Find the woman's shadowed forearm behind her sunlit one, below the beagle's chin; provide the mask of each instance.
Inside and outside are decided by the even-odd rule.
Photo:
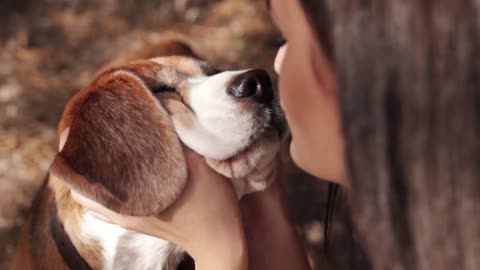
[[[291,220],[283,183],[278,180],[241,202],[249,269],[308,270],[306,252]]]

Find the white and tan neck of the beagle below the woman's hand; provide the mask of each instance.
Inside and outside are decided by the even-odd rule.
[[[160,270],[177,265],[182,259],[182,249],[168,241],[95,218],[71,198],[69,189],[55,177],[50,177],[49,185],[55,194],[58,222],[74,250],[91,269]],[[58,246],[58,240],[56,242],[60,250],[62,247]],[[75,252],[60,253],[67,264],[68,260],[75,260],[72,258]]]

